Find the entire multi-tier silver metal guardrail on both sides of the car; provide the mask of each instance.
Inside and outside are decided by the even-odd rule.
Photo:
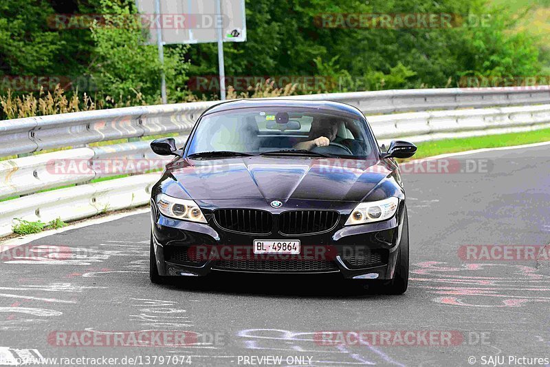
[[[369,116],[369,123],[381,143],[398,137],[419,141],[445,133],[488,134],[503,129],[537,129],[550,124],[550,87],[534,91],[392,90],[283,98],[340,101],[355,105],[367,115],[407,111]],[[0,235],[12,233],[13,218],[43,222],[57,217],[76,220],[102,211],[145,205],[151,185],[159,176],[158,173],[141,174],[150,168],[148,166],[136,167],[132,173],[139,174],[137,176],[89,181],[119,173],[94,168],[102,160],[162,160],[150,151],[148,141],[102,147],[86,145],[174,132],[182,135],[177,137],[181,145],[199,114],[217,103],[126,107],[0,121],[0,156],[73,147],[0,161],[0,199],[27,195],[0,202]],[[522,106],[504,107],[510,105]],[[493,108],[476,108],[487,106]],[[428,111],[430,109],[443,110]],[[64,162],[78,162],[81,166],[75,171],[56,171]],[[82,165],[89,169],[82,169]],[[73,184],[78,186],[37,193]]]

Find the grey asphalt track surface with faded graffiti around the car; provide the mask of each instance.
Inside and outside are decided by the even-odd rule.
[[[550,357],[549,260],[460,254],[465,245],[549,244],[549,146],[452,160],[459,171],[403,174],[411,253],[404,295],[369,294],[338,276],[224,273],[156,286],[148,279],[150,219],[139,214],[34,240],[26,245],[32,255],[2,253],[0,365],[43,356],[118,357],[114,365],[127,366],[124,356],[141,356],[136,365],[483,366],[498,355],[503,366],[543,366],[544,360],[509,363],[509,357]],[[466,165],[485,168],[460,173]],[[75,339],[64,346],[56,339],[85,331],[198,334],[181,346],[155,347],[84,346]],[[358,343],[351,333],[331,333],[347,339],[327,343],[319,339],[323,331],[391,338]],[[421,336],[399,343],[399,336],[417,331],[435,337],[429,345]],[[437,345],[444,333],[452,342]],[[163,363],[158,357],[153,364],[154,356],[165,356]],[[245,358],[252,356],[268,359]],[[282,357],[280,364],[272,357]],[[44,365],[93,365],[79,362]]]

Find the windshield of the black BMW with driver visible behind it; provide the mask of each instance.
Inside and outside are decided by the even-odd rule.
[[[246,108],[203,116],[187,155],[311,152],[311,156],[373,158],[373,141],[366,122],[353,115],[321,109]]]

